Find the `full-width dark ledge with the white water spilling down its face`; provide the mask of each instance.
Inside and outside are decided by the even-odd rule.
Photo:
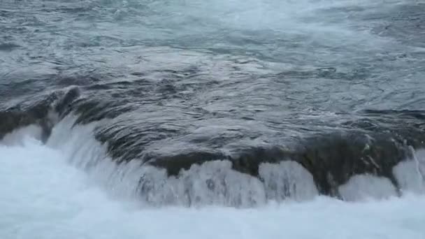
[[[425,115],[418,111],[366,113],[386,114],[387,122],[394,122],[387,129],[379,122],[366,127],[347,122],[345,131],[312,133],[290,145],[208,148],[217,136],[199,138],[195,131],[173,142],[158,136],[167,132],[161,124],[159,131],[130,130],[116,118],[131,109],[121,110],[80,98],[78,87],[55,92],[35,105],[5,110],[3,143],[13,145],[30,133],[64,148],[76,166],[101,173],[106,186],[125,184],[121,194],[154,205],[252,206],[318,194],[352,201],[425,190],[425,152],[420,150]],[[86,159],[75,162],[76,154]]]

